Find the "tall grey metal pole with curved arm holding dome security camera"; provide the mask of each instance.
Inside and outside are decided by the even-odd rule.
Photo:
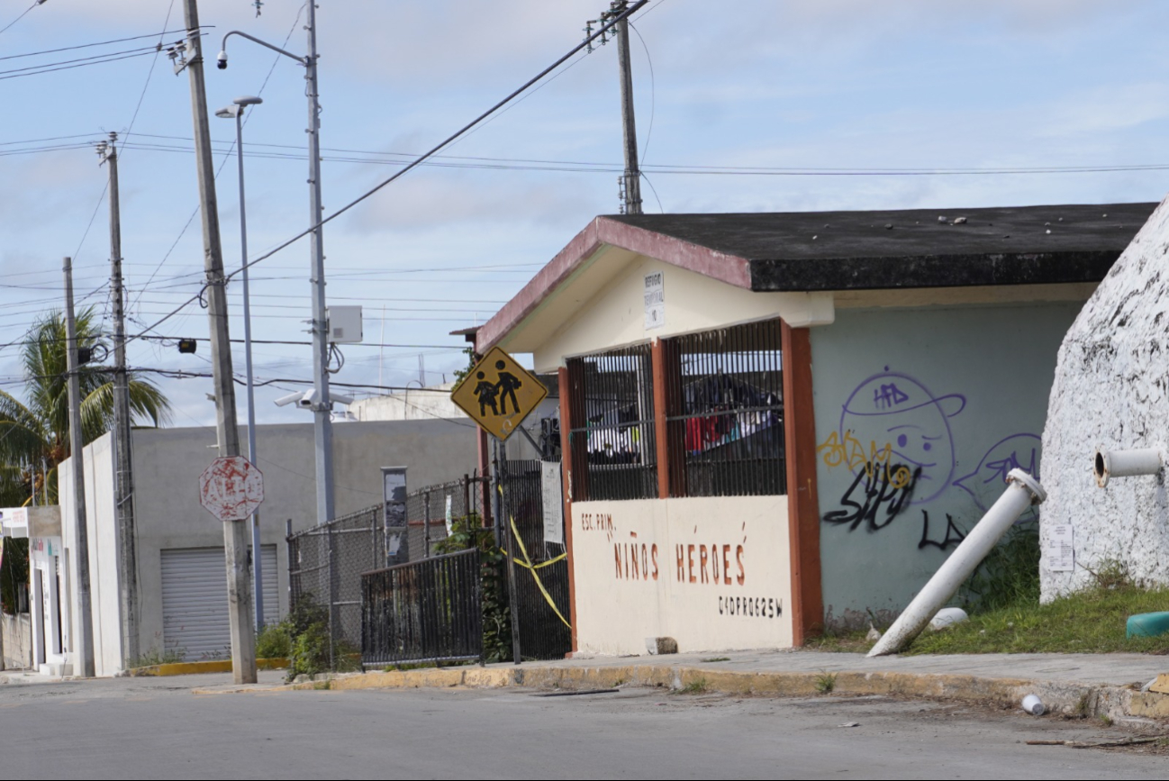
[[[325,309],[325,244],[320,226],[325,212],[320,205],[320,104],[317,87],[317,6],[307,4],[309,54],[300,57],[291,51],[261,41],[254,35],[231,30],[223,36],[222,50],[216,57],[220,70],[227,68],[227,40],[233,35],[245,37],[253,43],[267,47],[297,61],[305,69],[309,97],[309,224],[316,226],[310,236],[312,257],[312,381],[311,408],[317,450],[317,523],[333,519],[333,424],[332,396],[328,390],[328,312]],[[302,405],[303,406],[303,405]]]

